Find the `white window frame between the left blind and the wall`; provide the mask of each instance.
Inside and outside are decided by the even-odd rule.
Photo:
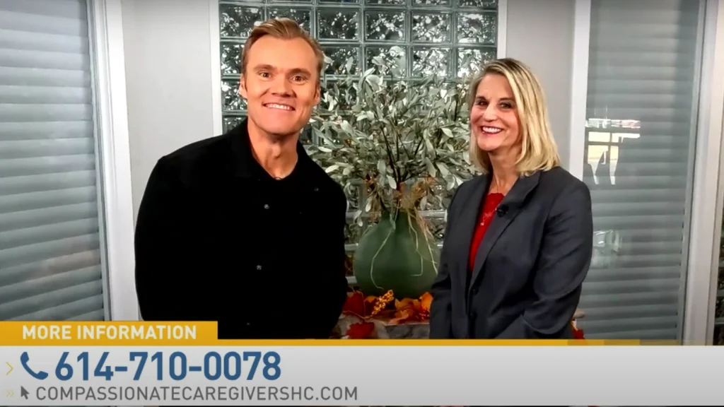
[[[106,315],[112,321],[138,321],[122,0],[88,1],[93,1],[88,20],[95,54]]]

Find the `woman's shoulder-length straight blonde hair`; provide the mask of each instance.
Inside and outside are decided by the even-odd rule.
[[[539,170],[547,171],[560,166],[555,139],[550,130],[545,96],[538,77],[520,61],[512,58],[495,59],[485,64],[481,72],[473,78],[468,93],[468,106],[471,110],[478,85],[485,75],[502,75],[513,90],[521,132],[521,155],[515,161],[518,172],[528,176]],[[484,174],[491,172],[489,156],[478,147],[472,128],[470,137],[471,161]]]

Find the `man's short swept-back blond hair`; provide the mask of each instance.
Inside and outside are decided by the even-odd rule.
[[[241,54],[242,75],[246,73],[246,65],[249,62],[249,51],[251,50],[251,46],[253,46],[259,38],[266,35],[282,40],[301,38],[308,43],[314,51],[314,56],[316,56],[317,74],[319,74],[317,76],[317,80],[319,81],[319,77],[321,77],[321,70],[324,68],[324,52],[321,50],[319,43],[312,38],[309,33],[301,28],[296,21],[286,17],[266,20],[251,30],[251,34],[249,34],[249,38],[246,39],[246,42],[244,43],[244,50]]]

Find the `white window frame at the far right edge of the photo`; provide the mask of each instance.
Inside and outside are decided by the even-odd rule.
[[[689,274],[684,312],[685,343],[712,345],[722,227],[720,161],[724,125],[724,0],[708,0],[699,96]]]

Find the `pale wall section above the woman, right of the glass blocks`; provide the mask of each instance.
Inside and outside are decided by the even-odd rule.
[[[505,56],[528,64],[546,94],[550,122],[568,168],[575,0],[508,0]]]

